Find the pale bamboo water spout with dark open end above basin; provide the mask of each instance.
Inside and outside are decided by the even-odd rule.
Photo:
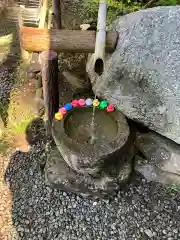
[[[99,0],[97,33],[94,53],[94,71],[98,75],[102,75],[105,67],[106,14],[106,0]]]

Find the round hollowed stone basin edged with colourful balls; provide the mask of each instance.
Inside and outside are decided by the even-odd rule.
[[[129,137],[126,118],[119,111],[95,111],[95,141],[90,143],[92,108],[73,108],[61,121],[54,120],[53,137],[66,163],[75,171],[94,175],[102,164],[120,157]]]

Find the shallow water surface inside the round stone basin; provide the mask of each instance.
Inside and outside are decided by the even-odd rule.
[[[117,123],[105,110],[96,109],[94,134],[92,133],[92,108],[76,108],[65,119],[66,134],[80,143],[103,144],[112,141],[117,134]],[[93,137],[93,141],[92,141]],[[95,140],[95,141],[94,141]]]

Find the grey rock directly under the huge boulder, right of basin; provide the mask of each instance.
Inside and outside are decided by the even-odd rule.
[[[180,175],[180,145],[152,132],[140,135],[136,146],[149,164]]]

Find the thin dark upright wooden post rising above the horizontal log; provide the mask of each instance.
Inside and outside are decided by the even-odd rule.
[[[61,29],[61,0],[53,0],[53,28]]]

